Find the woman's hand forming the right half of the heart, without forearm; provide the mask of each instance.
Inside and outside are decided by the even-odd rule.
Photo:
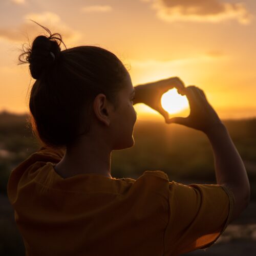
[[[200,88],[189,86],[180,90],[179,93],[186,95],[190,106],[190,114],[188,117],[171,118],[167,120],[167,123],[183,124],[205,134],[212,128],[222,125],[218,114],[208,103],[204,92]]]

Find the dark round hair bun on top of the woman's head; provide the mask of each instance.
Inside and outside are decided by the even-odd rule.
[[[32,44],[29,56],[30,73],[34,79],[38,79],[45,73],[60,55],[60,47],[56,40],[44,35],[37,36]]]

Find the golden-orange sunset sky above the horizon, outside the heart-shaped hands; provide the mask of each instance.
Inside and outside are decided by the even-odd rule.
[[[256,116],[255,0],[1,0],[0,111],[28,111],[33,79],[17,66],[24,42],[59,32],[68,48],[115,53],[133,85],[179,76],[202,88],[221,118]],[[144,104],[138,118],[162,118]]]

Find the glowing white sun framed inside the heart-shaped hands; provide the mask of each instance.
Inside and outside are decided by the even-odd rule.
[[[169,114],[176,114],[189,108],[187,97],[178,94],[177,89],[164,93],[161,98],[161,104]]]

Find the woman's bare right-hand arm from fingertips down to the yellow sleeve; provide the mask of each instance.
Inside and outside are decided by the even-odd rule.
[[[208,137],[215,156],[217,183],[228,187],[234,195],[231,220],[236,219],[250,200],[250,184],[244,163],[234,146],[225,125],[208,103],[204,92],[190,86],[183,90],[189,101],[188,117],[175,117],[169,123],[179,123],[202,131]]]

